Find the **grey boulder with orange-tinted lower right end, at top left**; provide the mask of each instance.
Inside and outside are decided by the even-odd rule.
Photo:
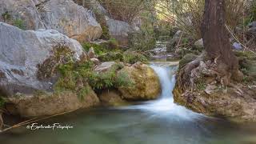
[[[72,0],[50,0],[43,2],[38,10],[46,29],[58,30],[79,42],[100,38],[102,28],[94,13]]]

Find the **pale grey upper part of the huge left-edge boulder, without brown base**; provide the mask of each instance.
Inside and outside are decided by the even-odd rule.
[[[55,62],[49,58],[54,58],[62,47],[70,51],[75,60],[83,54],[82,46],[77,41],[56,30],[25,31],[0,22],[0,31],[0,91],[6,95],[51,90],[54,81],[50,75],[44,73],[41,75],[44,80],[38,80],[41,70],[51,73],[61,60],[57,58]],[[46,64],[49,66],[46,67]]]

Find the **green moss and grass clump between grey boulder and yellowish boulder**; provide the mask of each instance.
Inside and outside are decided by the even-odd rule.
[[[63,90],[71,90],[79,99],[90,93],[90,87],[94,90],[117,88],[118,86],[130,86],[131,81],[127,74],[118,73],[122,65],[117,64],[104,73],[96,73],[93,70],[93,62],[69,62],[58,67],[61,78],[58,79],[54,90],[58,93]]]

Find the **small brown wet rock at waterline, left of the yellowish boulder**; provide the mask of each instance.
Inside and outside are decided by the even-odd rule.
[[[118,90],[104,90],[102,94],[99,94],[99,99],[104,106],[124,106],[127,104]]]

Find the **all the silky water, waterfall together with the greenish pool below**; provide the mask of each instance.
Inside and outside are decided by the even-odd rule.
[[[26,130],[0,134],[0,144],[254,144],[256,124],[234,124],[194,113],[174,103],[172,90],[177,67],[155,66],[162,94],[158,100],[132,106],[79,110],[50,118],[70,130]]]

